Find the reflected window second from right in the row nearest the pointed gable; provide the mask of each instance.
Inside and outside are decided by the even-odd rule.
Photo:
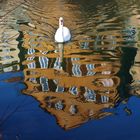
[[[96,101],[96,94],[94,92],[94,90],[90,90],[88,88],[85,87],[85,94],[84,97],[87,101]]]

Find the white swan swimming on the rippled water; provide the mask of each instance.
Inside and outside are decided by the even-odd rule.
[[[58,43],[64,43],[71,39],[70,30],[63,26],[64,20],[62,17],[59,18],[59,28],[55,33],[55,41]]]

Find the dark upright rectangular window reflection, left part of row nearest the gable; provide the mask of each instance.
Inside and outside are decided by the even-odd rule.
[[[42,91],[49,91],[48,79],[45,77],[40,77],[40,84],[42,86]]]

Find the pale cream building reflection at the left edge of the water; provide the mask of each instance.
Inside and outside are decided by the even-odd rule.
[[[8,27],[0,27],[0,65],[1,72],[10,72],[19,70],[19,32]]]

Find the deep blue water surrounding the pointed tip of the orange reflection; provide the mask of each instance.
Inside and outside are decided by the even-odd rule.
[[[9,73],[12,75],[12,73]],[[1,74],[6,78],[9,74]],[[14,75],[22,75],[22,72]],[[25,88],[21,82],[1,82],[1,135],[5,140],[138,140],[140,128],[140,101],[131,97],[127,104],[120,104],[112,109],[115,115],[100,120],[91,120],[78,128],[65,131],[60,128],[55,118],[39,108],[38,102],[32,97],[22,95]],[[131,109],[128,115],[124,108]],[[110,110],[109,110],[110,111]],[[63,118],[62,118],[63,119]]]

